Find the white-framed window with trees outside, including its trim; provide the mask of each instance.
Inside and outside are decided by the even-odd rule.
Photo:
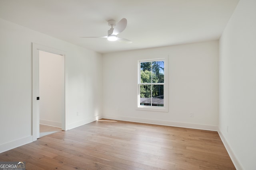
[[[153,59],[138,62],[138,109],[168,111],[166,61]]]

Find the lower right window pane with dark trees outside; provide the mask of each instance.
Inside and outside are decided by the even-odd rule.
[[[152,85],[152,106],[164,106],[164,85]]]

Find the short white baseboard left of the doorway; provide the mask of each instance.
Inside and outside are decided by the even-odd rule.
[[[32,136],[24,137],[22,139],[18,139],[12,142],[4,143],[0,145],[0,153],[5,152],[10,149],[14,149],[16,147],[20,147],[22,145],[31,143],[33,141]]]

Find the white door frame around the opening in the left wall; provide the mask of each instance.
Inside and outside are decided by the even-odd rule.
[[[40,97],[39,94],[39,50],[46,51],[49,53],[54,53],[58,55],[64,56],[64,64],[66,54],[64,51],[60,51],[58,49],[53,49],[51,47],[46,47],[44,45],[39,45],[36,43],[32,43],[32,136],[33,141],[36,141],[39,138],[39,101],[37,97]],[[65,71],[66,72],[66,66]],[[66,75],[66,74],[65,74]],[[66,81],[65,81],[66,84]],[[64,86],[65,86],[64,84]],[[66,88],[65,88],[66,94]],[[65,98],[66,95],[64,94]],[[65,99],[64,99],[65,100]],[[62,130],[66,130],[66,100],[65,100],[65,112],[62,114]]]

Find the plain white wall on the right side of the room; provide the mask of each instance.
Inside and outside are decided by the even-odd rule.
[[[240,0],[220,38],[219,117],[236,168],[256,169],[255,0]]]

